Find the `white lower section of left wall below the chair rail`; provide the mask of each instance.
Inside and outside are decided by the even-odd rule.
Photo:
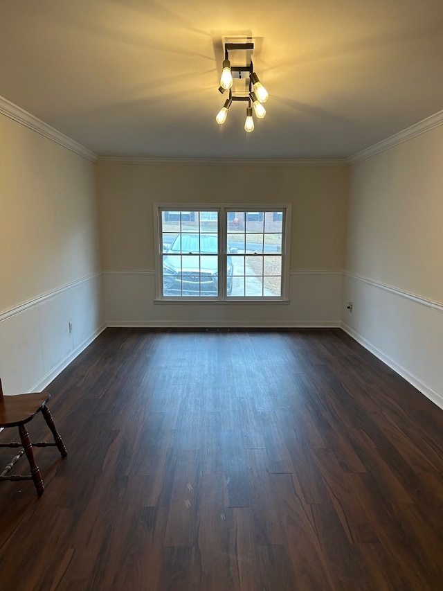
[[[102,310],[102,274],[97,273],[1,313],[5,394],[46,387],[105,328]]]

